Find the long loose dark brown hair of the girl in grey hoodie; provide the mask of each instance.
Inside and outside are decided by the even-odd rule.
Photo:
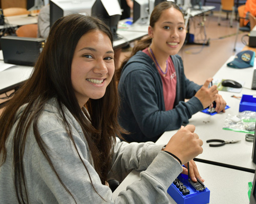
[[[58,176],[48,154],[47,146],[42,141],[37,128],[38,118],[44,105],[53,97],[57,100],[66,131],[76,148],[77,155],[84,168],[88,172],[75,145],[63,106],[67,107],[80,124],[89,144],[94,168],[99,174],[101,183],[105,184],[111,165],[112,145],[116,141],[115,136],[121,137],[120,132],[122,132],[117,121],[119,98],[115,74],[113,80],[106,88],[104,96],[100,99],[89,99],[85,107],[82,108],[83,112],[79,107],[71,84],[71,63],[74,50],[81,36],[92,30],[99,30],[105,33],[113,43],[111,31],[107,25],[97,18],[72,14],[58,19],[50,30],[45,47],[42,49],[30,79],[8,102],[0,117],[0,165],[3,165],[7,157],[5,143],[15,122],[15,114],[21,106],[27,104],[13,135],[14,185],[19,203],[25,203],[25,200],[27,200],[25,196],[28,198],[23,168],[23,155],[27,133],[31,125],[33,126],[34,137],[42,154],[48,160],[62,186],[73,197]],[[91,136],[87,133],[90,133]]]

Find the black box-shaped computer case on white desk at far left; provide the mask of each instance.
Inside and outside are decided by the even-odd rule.
[[[5,36],[0,40],[5,63],[27,66],[34,66],[45,44],[43,38]]]

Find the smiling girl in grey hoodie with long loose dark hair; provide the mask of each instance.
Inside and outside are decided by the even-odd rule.
[[[53,24],[30,79],[0,116],[0,203],[169,202],[167,188],[203,142],[194,125],[164,150],[120,142],[112,43],[94,17],[72,14]],[[122,181],[132,169],[143,170],[140,181],[114,198],[106,181]]]

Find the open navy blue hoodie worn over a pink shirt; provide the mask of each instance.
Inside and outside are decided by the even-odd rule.
[[[139,51],[123,67],[118,84],[119,122],[131,133],[123,135],[129,142],[156,142],[165,131],[179,129],[193,114],[203,110],[200,100],[194,96],[201,86],[185,77],[180,56],[170,57],[177,85],[174,108],[168,111],[164,106],[162,80],[150,56]],[[189,99],[186,103],[185,98]]]

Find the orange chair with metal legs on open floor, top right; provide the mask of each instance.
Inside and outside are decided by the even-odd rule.
[[[221,25],[221,12],[227,13],[227,19],[228,19],[228,13],[231,13],[230,16],[230,27],[233,27],[233,17],[234,17],[234,0],[221,0],[221,6],[219,11],[219,17],[218,17],[218,25]]]

